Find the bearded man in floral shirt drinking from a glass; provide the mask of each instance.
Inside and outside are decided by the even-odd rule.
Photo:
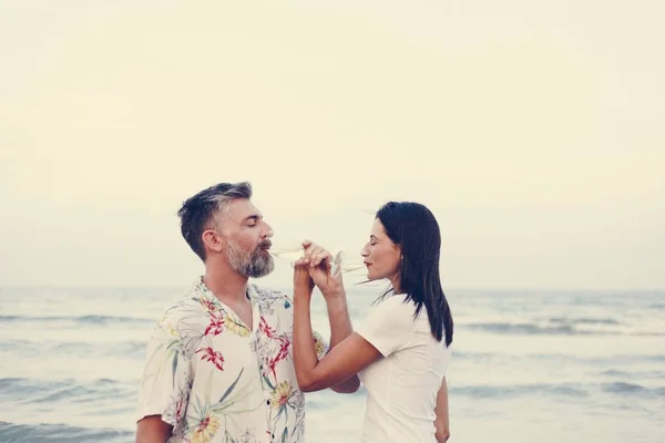
[[[293,302],[248,284],[274,268],[273,230],[250,197],[249,183],[221,183],[178,210],[182,235],[205,275],[153,330],[139,392],[137,443],[305,441]],[[304,253],[329,259],[314,244],[304,243]],[[352,331],[345,300],[327,303],[335,347]],[[316,333],[315,340],[320,359],[326,344]],[[358,387],[352,378],[332,389]]]

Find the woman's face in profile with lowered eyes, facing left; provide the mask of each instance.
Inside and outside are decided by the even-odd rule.
[[[367,266],[368,280],[387,278],[392,282],[392,287],[397,288],[401,249],[388,237],[378,218],[371,227],[369,241],[362,247],[360,255]]]

